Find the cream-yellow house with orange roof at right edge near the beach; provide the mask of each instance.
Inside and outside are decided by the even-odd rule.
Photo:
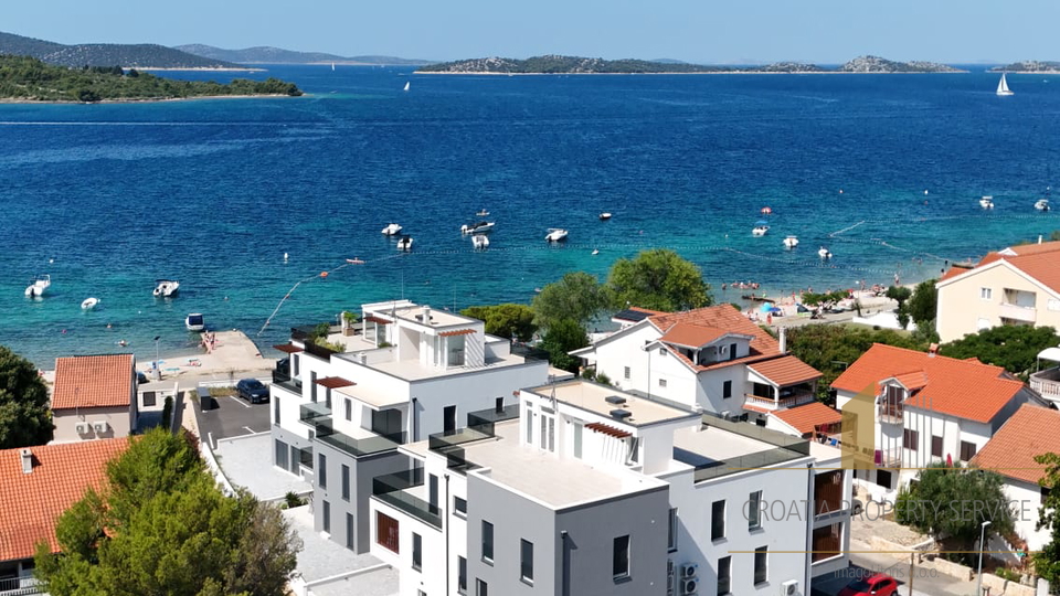
[[[935,287],[943,342],[1003,324],[1060,329],[1060,242],[1010,246],[973,267],[952,267]]]

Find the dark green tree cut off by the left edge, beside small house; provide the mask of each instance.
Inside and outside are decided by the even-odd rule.
[[[0,449],[52,440],[47,387],[29,360],[0,345]]]

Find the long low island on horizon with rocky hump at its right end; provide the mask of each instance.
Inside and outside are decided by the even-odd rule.
[[[700,74],[700,73],[963,73],[933,62],[894,62],[860,56],[838,68],[816,64],[777,62],[764,66],[717,66],[677,61],[603,60],[545,55],[527,60],[486,57],[442,62],[420,67],[417,73],[438,74]]]

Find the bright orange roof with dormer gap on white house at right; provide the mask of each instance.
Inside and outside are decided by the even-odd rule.
[[[932,409],[958,418],[990,422],[1024,389],[1000,366],[976,360],[957,360],[926,352],[876,343],[831,382],[833,389],[860,393],[879,392],[879,383],[902,377],[913,383],[923,375],[926,383],[905,400],[905,405]]]

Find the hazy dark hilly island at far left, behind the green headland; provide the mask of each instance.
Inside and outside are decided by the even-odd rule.
[[[0,32],[0,54],[32,56],[47,64],[124,66],[126,68],[246,70],[231,62],[208,58],[157,44],[82,43],[64,45]]]

